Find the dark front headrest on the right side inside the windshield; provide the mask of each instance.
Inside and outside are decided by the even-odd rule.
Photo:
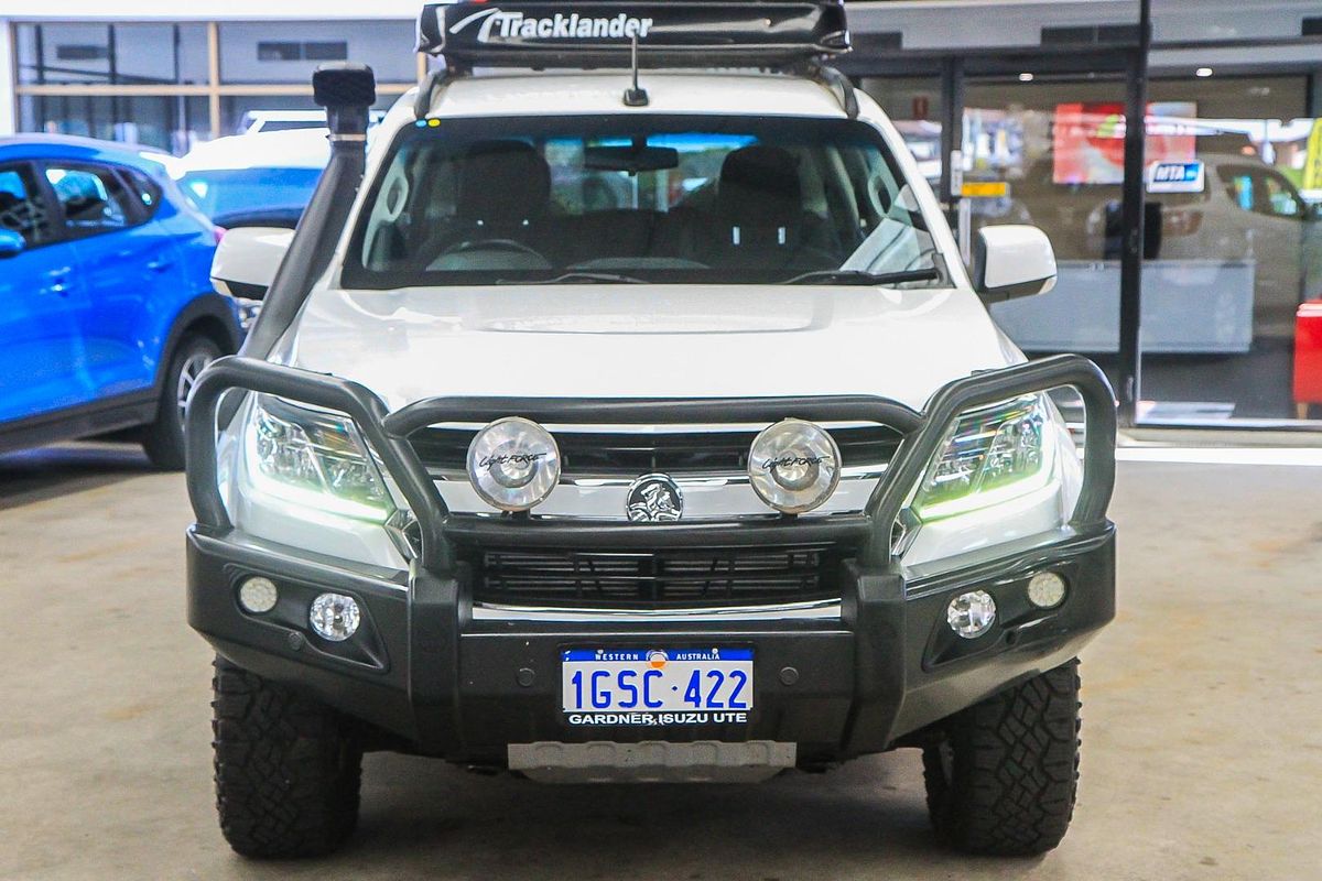
[[[798,160],[780,147],[743,147],[726,156],[718,190],[722,218],[747,226],[791,226],[802,217]]]

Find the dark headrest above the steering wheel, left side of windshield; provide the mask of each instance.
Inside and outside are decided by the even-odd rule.
[[[539,217],[551,198],[551,169],[525,141],[479,141],[459,174],[459,217],[509,226]]]

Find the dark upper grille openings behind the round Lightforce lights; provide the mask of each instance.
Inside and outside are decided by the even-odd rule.
[[[463,473],[473,429],[423,428],[410,436],[431,473]],[[637,477],[664,473],[742,474],[756,431],[724,432],[553,432],[566,474]],[[843,468],[884,466],[902,435],[884,425],[833,428]]]

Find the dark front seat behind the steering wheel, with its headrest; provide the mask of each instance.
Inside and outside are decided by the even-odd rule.
[[[539,251],[550,201],[551,169],[535,147],[517,140],[472,144],[459,166],[455,215],[427,250],[431,268],[547,268],[517,246]]]

